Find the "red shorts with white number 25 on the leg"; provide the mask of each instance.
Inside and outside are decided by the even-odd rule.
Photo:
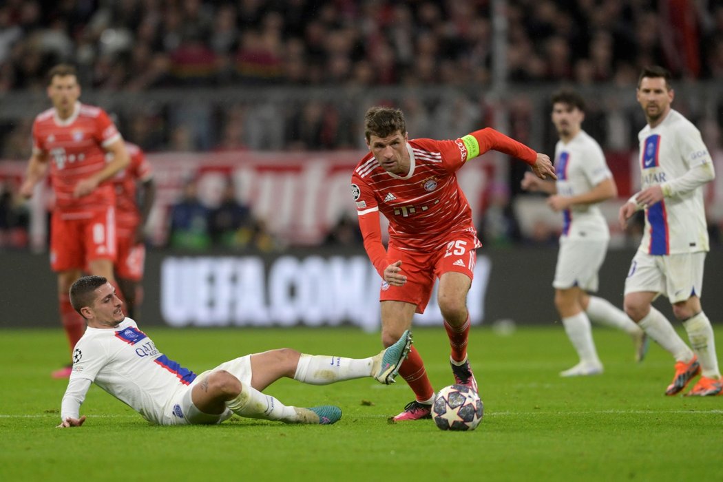
[[[474,279],[476,249],[482,246],[474,232],[451,235],[445,244],[429,253],[402,251],[389,244],[387,259],[390,263],[401,259],[401,272],[407,277],[402,286],[392,286],[382,281],[380,301],[406,301],[416,304],[416,312],[424,313],[435,280],[445,272],[461,272]]]

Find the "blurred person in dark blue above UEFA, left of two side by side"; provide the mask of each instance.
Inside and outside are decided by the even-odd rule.
[[[169,246],[176,249],[206,249],[210,245],[209,210],[197,196],[196,181],[184,185],[183,197],[171,207]]]

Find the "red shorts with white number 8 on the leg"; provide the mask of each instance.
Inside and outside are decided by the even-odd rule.
[[[58,271],[84,270],[96,259],[116,259],[114,207],[92,212],[54,211],[51,218],[50,265]]]

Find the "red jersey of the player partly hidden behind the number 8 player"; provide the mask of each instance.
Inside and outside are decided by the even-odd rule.
[[[134,233],[140,223],[140,210],[136,199],[137,182],[145,182],[153,177],[150,163],[137,145],[126,142],[126,150],[130,157],[127,168],[121,169],[112,178],[116,191],[116,231],[118,236],[129,236]],[[110,160],[111,155],[106,158]]]

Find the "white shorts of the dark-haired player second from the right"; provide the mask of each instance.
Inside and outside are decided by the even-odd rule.
[[[605,260],[607,241],[561,237],[552,286],[558,290],[577,286],[584,291],[597,291],[597,273]]]

